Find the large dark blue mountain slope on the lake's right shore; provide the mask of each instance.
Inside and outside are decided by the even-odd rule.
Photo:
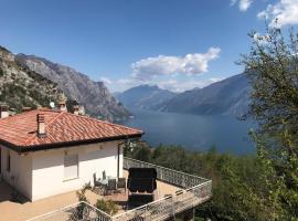
[[[251,90],[245,74],[238,74],[204,88],[194,88],[178,94],[162,103],[159,109],[198,115],[243,116],[248,110]]]

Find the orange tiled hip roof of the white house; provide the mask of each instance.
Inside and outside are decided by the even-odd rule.
[[[45,117],[45,137],[38,136],[38,114]],[[95,118],[51,109],[35,109],[0,119],[0,143],[30,148],[88,140],[138,137],[142,131]]]

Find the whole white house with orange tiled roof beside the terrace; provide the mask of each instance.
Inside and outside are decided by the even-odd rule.
[[[142,135],[67,112],[6,110],[0,108],[0,173],[31,201],[79,189],[94,172],[121,176],[124,141]]]

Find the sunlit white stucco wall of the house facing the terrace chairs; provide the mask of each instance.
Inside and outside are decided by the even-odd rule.
[[[81,189],[86,182],[93,185],[93,173],[117,177],[118,144],[110,141],[77,147],[42,150],[32,154],[32,201]],[[78,178],[64,180],[64,155],[78,155]],[[123,176],[123,148],[119,159]]]

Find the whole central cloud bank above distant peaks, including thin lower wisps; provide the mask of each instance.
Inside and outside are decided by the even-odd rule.
[[[198,80],[198,75],[207,72],[209,62],[219,57],[220,52],[219,48],[210,48],[206,53],[148,57],[132,63],[132,74],[127,78],[111,81],[103,76],[100,81],[113,92],[123,92],[141,84],[158,85],[172,92],[203,87],[220,80]]]

